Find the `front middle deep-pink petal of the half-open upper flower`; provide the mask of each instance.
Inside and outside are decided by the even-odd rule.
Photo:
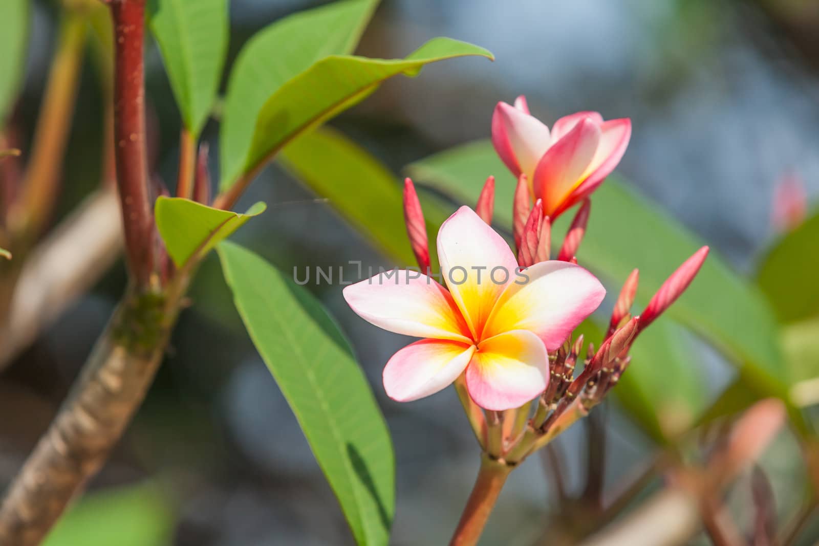
[[[546,151],[533,183],[535,198],[543,200],[544,214],[554,219],[554,211],[582,182],[599,142],[600,126],[584,118]]]

